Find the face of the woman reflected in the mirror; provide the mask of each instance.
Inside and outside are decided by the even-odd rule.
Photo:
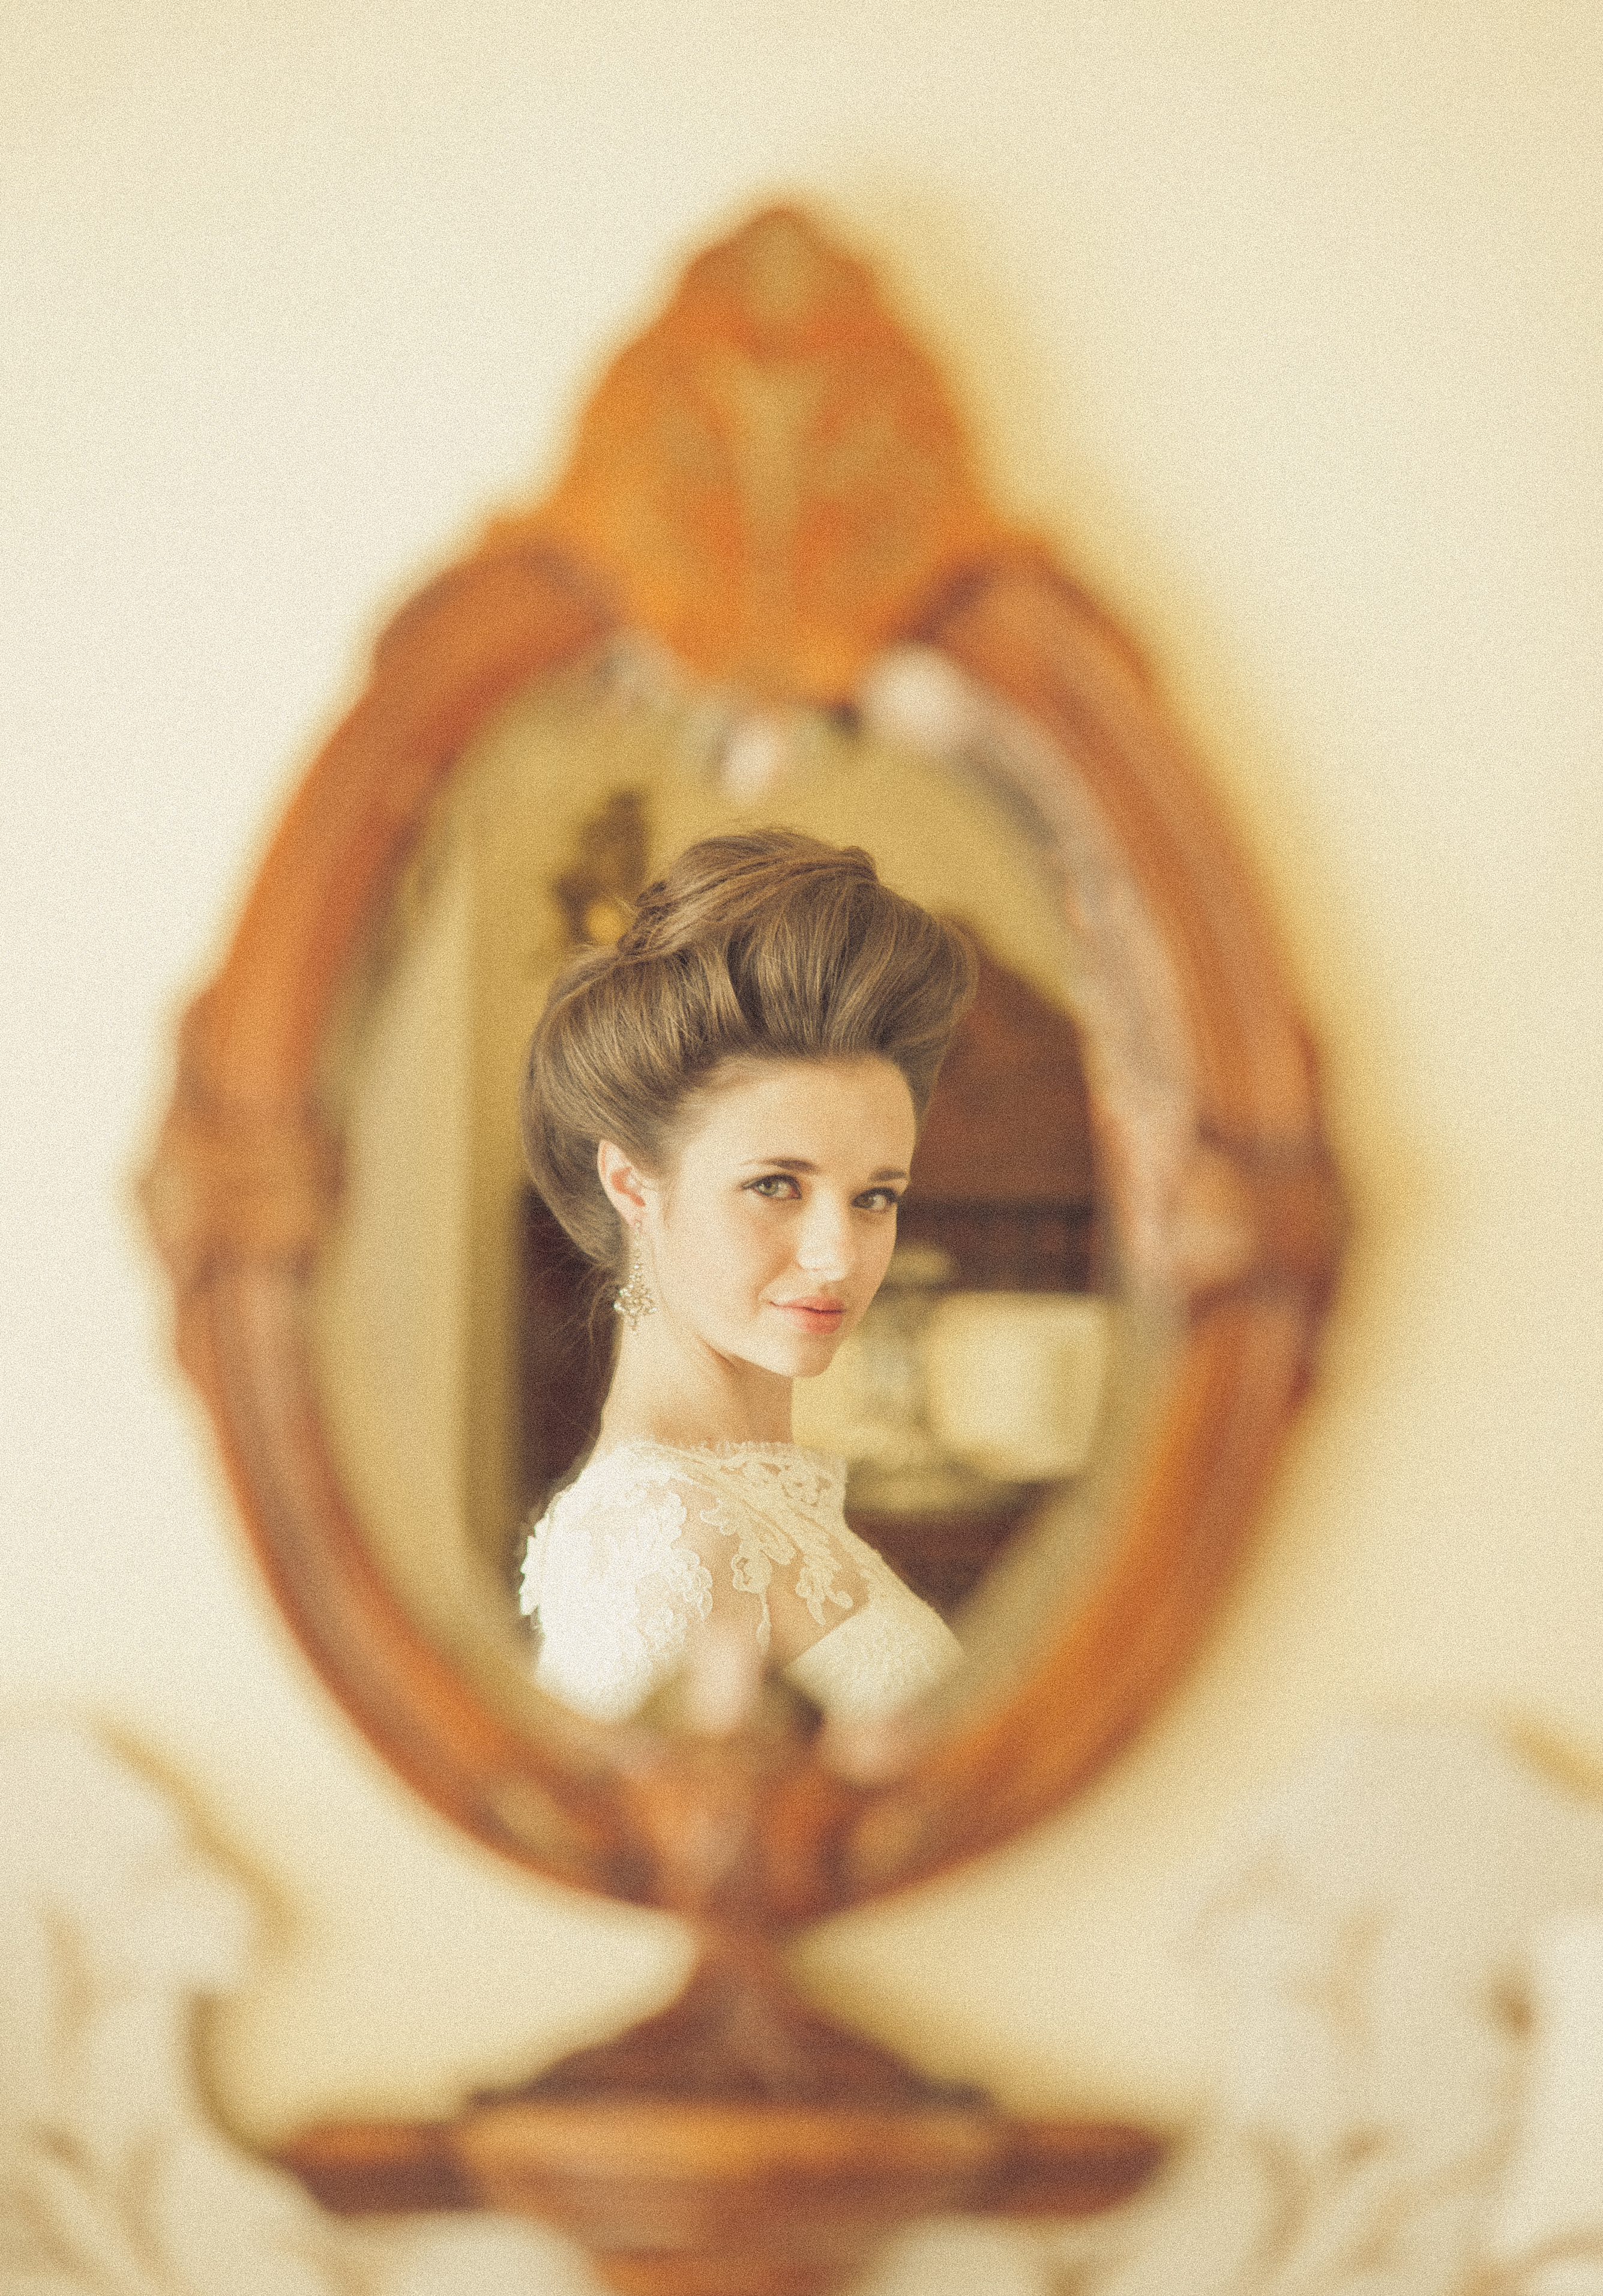
[[[891,1061],[726,1061],[673,1171],[643,1182],[659,1336],[790,1380],[824,1371],[896,1249],[912,1148]]]

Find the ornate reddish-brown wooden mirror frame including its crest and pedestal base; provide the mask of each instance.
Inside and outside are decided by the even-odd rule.
[[[1086,1017],[1125,1288],[1174,1345],[1089,1589],[983,1697],[838,1738],[779,1692],[723,1736],[537,1729],[406,1614],[342,1490],[308,1345],[340,1194],[319,1049],[439,788],[521,689],[618,631],[765,705],[850,709],[886,659],[983,709],[1102,967]],[[1141,1029],[1162,1008],[1171,1042]],[[1075,2209],[1151,2138],[1006,2122],[831,2027],[774,1940],[1006,1839],[1075,1791],[1197,1644],[1309,1375],[1341,1210],[1304,1033],[1229,833],[1109,618],[981,498],[932,363],[861,264],[774,209],[611,365],[556,494],[384,631],[223,971],[145,1182],[273,1591],[390,1763],[478,1839],[700,1924],[682,2000],[450,2128],[294,2149],[335,2204],[524,2206],[620,2289],[827,2289],[898,2218]]]

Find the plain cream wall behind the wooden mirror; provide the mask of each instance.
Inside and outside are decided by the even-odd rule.
[[[1157,1883],[1330,1715],[1603,1770],[1603,16],[1585,0],[11,0],[0,69],[0,1665],[282,1908],[234,2119],[443,2103],[666,1986],[459,1846],[227,1527],[129,1173],[381,611],[556,466],[710,230],[813,197],[1240,817],[1357,1205],[1185,1690],[1072,1816],[811,1949],[1010,2096],[1180,2105]]]

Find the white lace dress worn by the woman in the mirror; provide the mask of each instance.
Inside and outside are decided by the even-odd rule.
[[[735,1623],[824,1713],[905,1706],[958,1637],[847,1529],[845,1465],[790,1442],[625,1442],[560,1490],[524,1554],[535,1681],[602,1720],[634,1713],[703,1619]]]

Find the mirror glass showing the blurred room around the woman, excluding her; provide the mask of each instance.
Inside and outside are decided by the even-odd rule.
[[[866,845],[981,951],[891,1272],[829,1373],[797,1382],[797,1442],[845,1458],[847,1520],[960,1642],[988,1587],[1033,1580],[1038,1605],[1043,1573],[1063,1593],[1093,1550],[1130,1318],[1061,833],[978,751],[919,737],[919,675],[886,657],[852,712],[774,712],[613,641],[485,728],[347,983],[322,1079],[344,1143],[312,1288],[322,1403],[386,1577],[503,1701],[533,1662],[528,1522],[595,1435],[613,1322],[526,1180],[528,1035],[563,960],[615,939],[712,831]]]

